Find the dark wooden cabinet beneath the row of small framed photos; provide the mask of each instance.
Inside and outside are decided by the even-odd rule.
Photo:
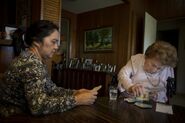
[[[87,88],[92,89],[95,86],[102,85],[99,96],[107,95],[108,79],[105,72],[97,72],[82,69],[53,69],[52,80],[57,86],[70,89]]]

